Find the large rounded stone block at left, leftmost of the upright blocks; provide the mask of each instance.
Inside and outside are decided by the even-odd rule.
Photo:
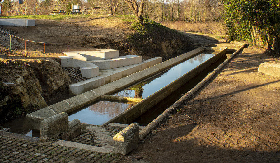
[[[41,122],[41,140],[58,138],[68,129],[68,115],[65,112],[56,114]]]

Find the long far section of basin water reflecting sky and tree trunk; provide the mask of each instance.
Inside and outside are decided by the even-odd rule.
[[[205,62],[212,56],[214,56],[214,54],[199,54],[170,68],[164,73],[152,77],[124,91],[120,91],[115,95],[122,97],[147,98],[156,91],[160,90],[161,88],[167,86],[179,77],[183,76],[185,73],[194,69],[201,63]]]

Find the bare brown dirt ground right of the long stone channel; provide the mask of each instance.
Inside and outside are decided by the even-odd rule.
[[[275,59],[245,48],[122,162],[280,162],[280,78],[258,72]]]

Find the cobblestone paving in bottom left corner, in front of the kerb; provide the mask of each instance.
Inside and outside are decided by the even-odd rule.
[[[117,162],[123,156],[114,153],[99,153],[72,147],[52,145],[54,141],[30,142],[25,138],[11,137],[1,132],[0,162]]]

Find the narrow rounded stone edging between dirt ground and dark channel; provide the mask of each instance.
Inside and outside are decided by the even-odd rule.
[[[244,48],[246,43],[243,43],[243,45],[236,50],[229,58],[227,58],[220,66],[215,68],[213,72],[209,73],[207,77],[205,77],[201,82],[199,82],[196,86],[194,86],[193,89],[185,93],[184,96],[182,96],[179,100],[177,100],[173,105],[171,105],[168,109],[166,109],[161,115],[159,115],[156,119],[154,119],[151,123],[149,123],[145,128],[143,128],[140,133],[139,137],[140,140],[143,140],[145,136],[147,136],[160,122],[162,119],[164,119],[172,110],[179,107],[185,100],[187,100],[191,95],[193,95],[198,89],[200,89],[208,80],[210,80],[218,71],[221,70],[221,68],[228,63],[231,58],[233,58],[237,53],[240,52],[241,49]]]

